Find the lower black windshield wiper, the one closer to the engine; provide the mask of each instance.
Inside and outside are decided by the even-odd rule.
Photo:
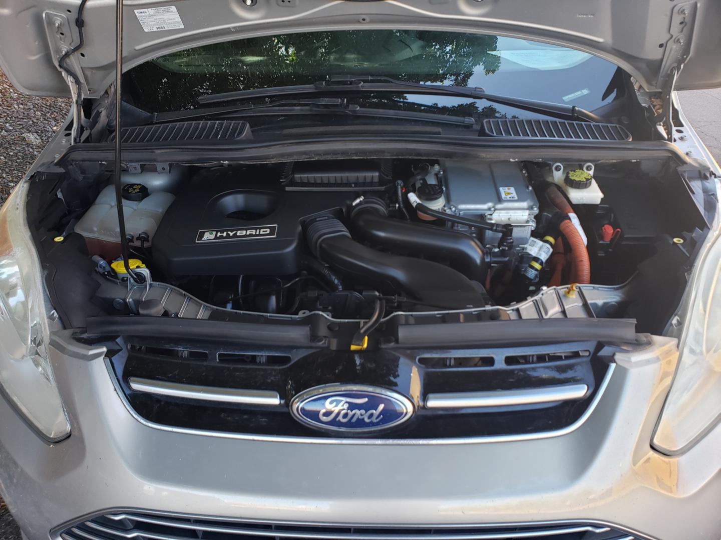
[[[213,107],[212,109],[190,109],[156,113],[151,123],[178,122],[191,118],[211,116],[249,117],[259,115],[285,114],[347,114],[348,116],[392,118],[394,120],[415,120],[416,122],[441,122],[443,124],[476,126],[472,117],[452,116],[433,112],[402,111],[398,109],[371,109],[349,104],[345,98],[284,99],[263,104],[247,104],[240,107]]]

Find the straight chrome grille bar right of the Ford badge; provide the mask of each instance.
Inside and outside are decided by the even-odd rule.
[[[563,384],[528,390],[491,390],[489,392],[447,392],[428,394],[425,408],[463,409],[535,405],[555,401],[580,400],[588,394],[587,384]]]

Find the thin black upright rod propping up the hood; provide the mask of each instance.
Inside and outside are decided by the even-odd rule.
[[[136,273],[131,268],[128,257],[128,237],[125,235],[125,214],[123,213],[123,186],[120,184],[120,109],[123,105],[123,0],[115,2],[115,207],[118,208],[118,228],[120,229],[120,253],[123,256],[123,266],[128,271],[128,279],[140,284],[145,282],[145,276]]]

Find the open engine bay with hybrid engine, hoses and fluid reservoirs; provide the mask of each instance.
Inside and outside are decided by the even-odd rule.
[[[56,221],[39,228],[56,279],[86,276],[89,315],[320,314],[359,321],[359,347],[394,314],[637,318],[652,330],[702,238],[683,181],[694,174],[662,159],[136,166],[121,183],[141,279],[123,264],[109,173],[58,179],[45,202]]]

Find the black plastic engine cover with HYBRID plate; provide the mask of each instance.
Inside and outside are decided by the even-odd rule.
[[[248,170],[211,169],[185,186],[153,237],[154,265],[167,276],[270,275],[300,271],[304,219],[340,216],[353,192],[286,192]]]

